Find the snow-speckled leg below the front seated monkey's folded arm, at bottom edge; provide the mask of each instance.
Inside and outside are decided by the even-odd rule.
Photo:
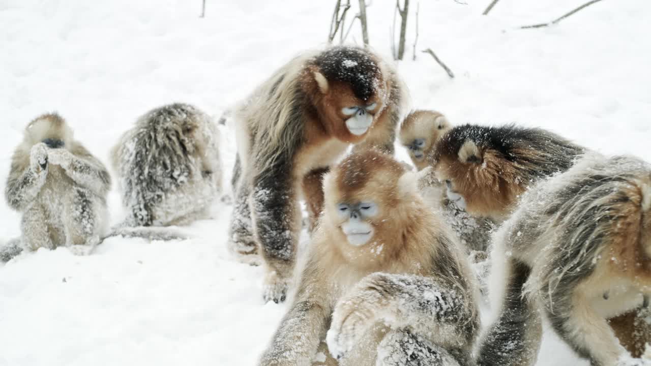
[[[378,346],[377,365],[460,366],[445,348],[430,343],[408,329],[391,330]]]

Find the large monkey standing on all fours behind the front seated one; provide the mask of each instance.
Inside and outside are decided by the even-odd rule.
[[[286,296],[299,199],[307,201],[314,228],[324,173],[352,144],[393,152],[403,98],[402,83],[378,55],[335,46],[284,64],[234,111],[238,156],[229,249],[244,261],[261,255],[266,300]]]

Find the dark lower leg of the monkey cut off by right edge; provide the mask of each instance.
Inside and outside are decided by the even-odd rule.
[[[542,339],[540,314],[533,303],[522,296],[531,268],[512,258],[505,265],[506,290],[502,309],[483,337],[477,364],[534,365]]]

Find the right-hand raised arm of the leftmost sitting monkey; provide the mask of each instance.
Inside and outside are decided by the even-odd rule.
[[[48,151],[48,156],[51,163],[61,166],[72,180],[96,195],[105,196],[111,188],[109,172],[90,153],[74,154],[64,148],[55,148]]]

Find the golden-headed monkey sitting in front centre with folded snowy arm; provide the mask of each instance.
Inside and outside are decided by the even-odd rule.
[[[368,150],[333,167],[324,194],[294,302],[260,365],[468,365],[475,283],[415,177]]]

